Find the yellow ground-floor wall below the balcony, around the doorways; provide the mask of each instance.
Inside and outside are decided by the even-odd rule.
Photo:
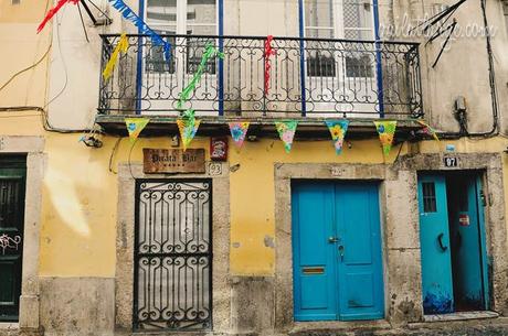
[[[32,112],[25,112],[30,116]],[[19,115],[17,115],[19,116]],[[23,119],[20,128],[19,120]],[[103,137],[104,147],[89,149],[78,142],[81,134],[56,134],[42,131],[39,117],[4,118],[0,134],[44,134],[47,165],[43,182],[41,275],[51,277],[114,277],[117,170],[119,162],[128,162],[130,143],[123,139],[117,151],[114,137]],[[207,138],[199,138],[192,148],[209,147]],[[455,144],[456,152],[501,152],[508,140],[496,138],[473,141],[426,141],[420,143],[422,153],[444,151]],[[131,152],[131,162],[140,162],[142,148],[169,148],[167,138],[141,138]],[[394,147],[388,162],[399,152]],[[488,150],[487,150],[488,149]],[[404,145],[401,154],[406,152]],[[113,171],[108,164],[113,155]],[[296,141],[287,154],[279,140],[262,139],[245,142],[239,152],[230,149],[231,197],[231,273],[271,275],[274,272],[274,249],[265,238],[275,237],[275,163],[382,163],[377,139],[352,140],[340,156],[331,141]],[[505,158],[508,166],[508,159]],[[505,188],[508,174],[505,173]],[[507,199],[508,200],[508,199]],[[508,202],[506,204],[508,208]]]

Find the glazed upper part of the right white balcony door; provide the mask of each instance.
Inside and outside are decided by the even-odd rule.
[[[374,13],[370,0],[305,0],[304,7],[305,37],[374,40]],[[307,42],[307,75],[336,77],[338,68],[342,68],[339,58],[345,59],[346,77],[373,77],[373,55],[348,50],[346,42],[340,47],[343,55],[336,57],[334,42]]]

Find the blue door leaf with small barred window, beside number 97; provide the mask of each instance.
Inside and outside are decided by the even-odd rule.
[[[446,181],[444,176],[419,176],[422,291],[425,314],[453,312]]]

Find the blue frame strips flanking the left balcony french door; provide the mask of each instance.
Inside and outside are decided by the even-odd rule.
[[[138,15],[145,20],[145,8],[147,0],[139,0]],[[219,51],[224,52],[224,0],[216,0],[219,10]],[[138,29],[138,34],[142,34],[141,29]],[[219,116],[224,115],[224,61],[219,57]],[[142,88],[142,43],[138,41],[138,58],[136,69],[136,115],[141,115],[141,88]]]

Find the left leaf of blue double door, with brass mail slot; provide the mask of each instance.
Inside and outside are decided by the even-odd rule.
[[[293,188],[293,246],[295,319],[337,317],[337,283],[334,262],[332,187],[325,184]]]

